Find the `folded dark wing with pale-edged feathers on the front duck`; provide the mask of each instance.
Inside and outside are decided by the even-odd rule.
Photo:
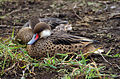
[[[86,37],[74,36],[68,33],[58,33],[54,36],[54,40],[52,40],[54,44],[64,44],[64,45],[71,45],[71,44],[78,44],[83,43],[85,45],[98,42],[95,40],[91,40]]]

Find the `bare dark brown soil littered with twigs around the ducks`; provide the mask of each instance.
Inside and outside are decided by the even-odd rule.
[[[120,1],[106,0],[35,0],[0,3],[0,37],[9,36],[15,26],[15,33],[31,16],[54,17],[69,21],[73,25],[71,34],[88,37],[101,42],[106,54],[120,54]],[[116,74],[120,77],[120,57],[105,58],[100,55],[91,56],[98,66],[106,66],[101,73]],[[36,69],[37,75],[28,78],[51,79],[61,74],[55,70]],[[19,74],[17,74],[20,78]],[[13,74],[3,76],[15,78]],[[116,77],[116,79],[118,78]]]

